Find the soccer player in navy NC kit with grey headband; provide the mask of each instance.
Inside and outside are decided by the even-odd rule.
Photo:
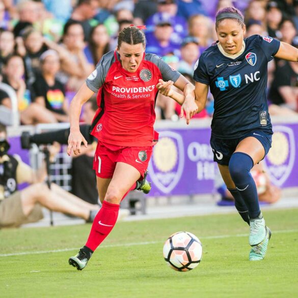
[[[250,260],[265,256],[271,232],[260,211],[252,167],[268,153],[272,124],[266,98],[267,64],[273,56],[298,61],[298,50],[271,37],[243,39],[243,15],[233,7],[216,14],[218,42],[206,49],[195,66],[198,113],[205,107],[208,88],[214,97],[210,144],[214,161],[235,199],[235,207],[250,225]],[[160,93],[181,97],[172,82],[157,86]],[[183,100],[183,96],[182,99]]]

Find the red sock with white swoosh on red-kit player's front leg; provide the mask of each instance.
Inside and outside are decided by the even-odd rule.
[[[119,213],[119,204],[103,201],[95,216],[86,246],[95,251],[100,243],[113,230]]]

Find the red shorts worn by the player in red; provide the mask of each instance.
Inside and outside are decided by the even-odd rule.
[[[136,168],[142,177],[148,168],[152,155],[150,147],[121,147],[115,145],[103,145],[98,142],[94,160],[93,170],[100,178],[112,178],[117,162],[124,162]]]

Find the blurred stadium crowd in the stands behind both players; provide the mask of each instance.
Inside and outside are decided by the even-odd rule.
[[[0,0],[2,83],[16,93],[21,124],[68,122],[77,88],[130,24],[146,25],[146,51],[193,82],[200,53],[216,40],[215,12],[227,6],[245,14],[246,37],[259,34],[298,46],[295,0]],[[269,113],[296,113],[296,63],[274,59],[268,68]],[[0,104],[11,109],[2,90]],[[206,109],[196,117],[212,112],[209,93]],[[156,115],[178,121],[179,105],[158,95]]]

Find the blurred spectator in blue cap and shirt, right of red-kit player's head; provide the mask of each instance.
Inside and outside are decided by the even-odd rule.
[[[173,29],[173,18],[167,13],[158,14],[154,19],[155,30],[147,35],[146,51],[154,53],[160,57],[166,56],[168,53],[180,55],[180,46],[171,41]]]

